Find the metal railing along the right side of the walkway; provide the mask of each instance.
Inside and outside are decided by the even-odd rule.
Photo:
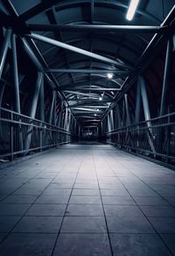
[[[106,132],[101,139],[175,166],[175,113]]]

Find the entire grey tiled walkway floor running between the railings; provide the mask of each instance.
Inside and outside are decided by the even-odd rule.
[[[175,172],[98,144],[4,168],[0,255],[175,255]]]

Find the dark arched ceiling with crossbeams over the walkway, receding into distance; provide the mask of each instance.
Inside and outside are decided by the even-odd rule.
[[[130,89],[151,61],[152,48],[172,28],[175,4],[140,0],[128,21],[130,0],[2,2],[1,10],[14,18],[18,33],[38,48],[45,73],[81,125],[98,124]]]

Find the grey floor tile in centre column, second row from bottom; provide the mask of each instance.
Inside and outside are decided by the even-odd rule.
[[[104,233],[107,230],[104,217],[65,217],[60,232]]]

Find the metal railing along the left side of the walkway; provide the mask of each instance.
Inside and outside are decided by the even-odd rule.
[[[42,151],[76,141],[76,135],[15,111],[0,108],[0,158]]]

